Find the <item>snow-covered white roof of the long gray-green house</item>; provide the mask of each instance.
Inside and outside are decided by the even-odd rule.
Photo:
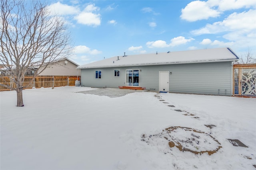
[[[77,68],[101,68],[116,66],[145,66],[181,63],[206,63],[219,61],[238,61],[239,58],[230,48],[176,51],[168,53],[127,55],[111,57]]]

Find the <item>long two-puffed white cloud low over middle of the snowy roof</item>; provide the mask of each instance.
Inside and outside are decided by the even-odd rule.
[[[174,47],[176,45],[186,44],[186,43],[188,43],[190,41],[193,41],[193,40],[194,40],[194,38],[186,39],[185,37],[179,36],[179,37],[174,37],[173,39],[171,39],[170,44],[166,43],[166,41],[163,41],[163,40],[157,40],[157,41],[149,41],[149,42],[146,43],[146,45],[148,46],[148,48]]]

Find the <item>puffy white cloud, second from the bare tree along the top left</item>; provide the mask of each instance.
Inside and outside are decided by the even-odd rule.
[[[92,12],[100,10],[99,7],[94,6],[94,4],[90,4],[86,6],[83,12],[75,16],[74,18],[77,20],[78,23],[89,25],[96,27],[100,25],[100,14],[94,14]]]

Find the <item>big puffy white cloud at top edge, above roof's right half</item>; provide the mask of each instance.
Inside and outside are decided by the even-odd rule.
[[[214,10],[205,1],[192,1],[181,10],[181,19],[187,21],[206,20],[210,17],[218,17],[220,12]]]

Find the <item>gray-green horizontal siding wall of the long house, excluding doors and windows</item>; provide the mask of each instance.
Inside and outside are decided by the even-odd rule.
[[[159,71],[169,71],[169,91],[231,96],[231,62],[169,64],[154,66],[88,68],[82,69],[81,84],[88,87],[118,88],[125,86],[126,70],[141,70],[139,86],[159,90]],[[95,78],[95,70],[101,70],[101,79]],[[114,76],[120,70],[120,76]]]

